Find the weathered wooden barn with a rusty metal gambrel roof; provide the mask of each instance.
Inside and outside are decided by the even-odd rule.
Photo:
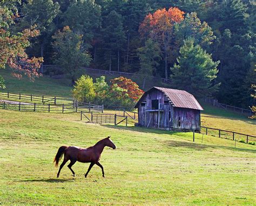
[[[135,108],[139,126],[200,131],[203,108],[187,91],[153,87],[143,94]]]

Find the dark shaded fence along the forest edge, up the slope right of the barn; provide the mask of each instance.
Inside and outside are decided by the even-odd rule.
[[[208,103],[208,104],[211,104],[213,106],[217,106],[218,108],[222,108],[222,109],[225,109],[225,110],[230,110],[230,111],[233,111],[233,112],[242,113],[243,115],[248,115],[248,116],[253,115],[253,112],[250,109],[244,109],[244,108],[239,108],[237,106],[231,106],[231,105],[219,103],[218,100],[214,100],[214,99],[211,99],[211,98],[205,98],[205,102]]]

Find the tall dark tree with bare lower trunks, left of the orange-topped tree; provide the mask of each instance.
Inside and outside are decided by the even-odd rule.
[[[112,69],[113,56],[117,54],[117,70],[120,70],[120,50],[125,42],[122,16],[116,11],[111,11],[104,20],[102,32],[104,33],[105,60],[109,62],[109,70]]]

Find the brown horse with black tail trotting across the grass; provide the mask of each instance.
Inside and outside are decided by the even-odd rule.
[[[61,146],[59,147],[59,150],[55,156],[54,162],[56,162],[55,166],[58,167],[59,160],[62,158],[64,154],[64,160],[62,164],[59,167],[59,172],[57,174],[57,177],[59,177],[59,173],[62,169],[62,167],[66,164],[67,161],[70,160],[70,164],[68,165],[68,168],[71,170],[73,176],[75,176],[75,172],[73,169],[71,169],[72,165],[76,163],[76,161],[79,162],[91,162],[88,171],[84,175],[85,178],[87,177],[87,174],[90,172],[93,165],[98,165],[100,168],[102,168],[102,175],[104,177],[104,169],[103,166],[99,164],[100,155],[103,152],[103,149],[105,146],[111,147],[116,149],[116,145],[110,140],[110,136],[98,141],[94,146],[88,147],[88,148],[79,148],[79,147],[67,147],[67,146]]]

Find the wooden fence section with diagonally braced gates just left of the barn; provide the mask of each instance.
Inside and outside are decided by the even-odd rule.
[[[119,116],[112,113],[93,113],[81,111],[80,120],[83,120],[83,117],[90,122],[101,123],[101,124],[114,124],[115,126],[125,122],[127,126],[127,116]]]

